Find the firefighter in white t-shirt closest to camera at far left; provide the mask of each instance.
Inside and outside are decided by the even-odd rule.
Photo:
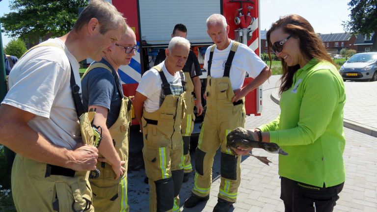
[[[81,103],[79,61],[101,60],[127,25],[116,8],[92,0],[74,28],[29,50],[9,74],[0,106],[0,143],[16,152],[12,195],[18,212],[94,212],[89,170],[98,149]],[[86,136],[91,135],[91,136]],[[93,143],[93,139],[90,140]]]

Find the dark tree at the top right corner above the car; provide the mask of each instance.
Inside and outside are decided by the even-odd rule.
[[[343,22],[346,31],[375,33],[372,51],[377,51],[377,0],[350,0],[350,21]]]

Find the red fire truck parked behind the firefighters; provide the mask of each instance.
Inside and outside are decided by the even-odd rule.
[[[121,66],[118,71],[126,96],[135,95],[142,74],[153,67],[159,50],[167,48],[176,24],[184,24],[187,27],[187,39],[191,43],[191,49],[198,56],[201,67],[207,47],[213,44],[207,34],[206,20],[214,13],[225,16],[230,26],[231,39],[246,44],[260,55],[259,0],[109,1],[127,18],[127,23],[134,29],[137,45],[140,47],[131,63],[128,66]],[[204,93],[207,72],[206,70],[202,72],[200,79]],[[246,76],[244,83],[251,80],[253,79]],[[260,115],[262,87],[250,92],[245,99],[246,114]],[[133,124],[137,124],[135,118]]]

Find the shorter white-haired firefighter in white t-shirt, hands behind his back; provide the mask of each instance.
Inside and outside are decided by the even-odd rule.
[[[149,178],[149,211],[178,212],[183,182],[181,120],[185,113],[185,81],[181,71],[190,43],[173,37],[166,59],[145,72],[133,101],[143,132],[143,158]]]

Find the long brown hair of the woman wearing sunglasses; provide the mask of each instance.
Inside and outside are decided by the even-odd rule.
[[[320,61],[326,60],[334,64],[331,60],[331,57],[327,54],[327,51],[323,46],[321,38],[318,34],[314,32],[314,29],[310,25],[310,23],[299,15],[291,14],[280,17],[278,21],[271,25],[269,31],[267,31],[266,37],[268,43],[267,49],[269,53],[270,68],[272,63],[270,54],[270,48],[272,46],[270,41],[270,34],[273,30],[277,28],[282,28],[285,33],[290,34],[294,38],[299,39],[300,51],[305,59],[310,60],[312,58],[317,58]],[[296,71],[300,68],[298,64],[295,66],[288,66],[283,58],[281,58],[281,66],[282,76],[279,94],[292,87],[293,76],[296,73]]]

